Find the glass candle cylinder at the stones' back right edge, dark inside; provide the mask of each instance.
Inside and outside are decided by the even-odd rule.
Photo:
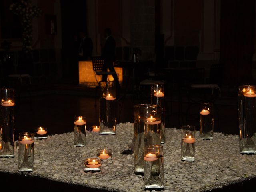
[[[213,139],[213,104],[200,104],[200,133],[202,139]]]

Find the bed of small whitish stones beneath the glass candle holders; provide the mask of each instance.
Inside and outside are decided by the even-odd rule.
[[[134,174],[134,156],[121,154],[134,136],[133,124],[116,126],[116,135],[87,132],[85,147],[74,147],[74,134],[36,140],[34,171],[30,176],[118,192],[144,191],[144,177]],[[256,156],[241,155],[237,135],[214,133],[213,140],[201,140],[196,133],[196,161],[182,162],[178,129],[166,130],[164,144],[165,190],[205,191],[256,176]],[[101,172],[84,172],[83,160],[96,157],[96,149],[111,148],[113,160],[102,162]],[[14,158],[0,158],[0,172],[18,172],[18,150]]]

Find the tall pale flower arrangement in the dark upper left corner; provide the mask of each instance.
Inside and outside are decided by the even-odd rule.
[[[32,50],[32,19],[41,14],[41,9],[32,5],[29,1],[21,0],[18,3],[10,5],[10,10],[13,14],[21,17],[20,22],[22,26],[22,44],[25,52]]]

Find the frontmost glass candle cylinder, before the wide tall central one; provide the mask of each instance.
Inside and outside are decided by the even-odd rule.
[[[144,182],[146,190],[164,188],[163,146],[144,147]]]

